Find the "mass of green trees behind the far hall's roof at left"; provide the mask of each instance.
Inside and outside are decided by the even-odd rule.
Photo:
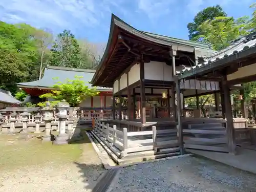
[[[92,45],[69,30],[54,36],[49,29],[0,21],[0,89],[15,94],[17,82],[40,79],[47,65],[95,69],[100,56]]]

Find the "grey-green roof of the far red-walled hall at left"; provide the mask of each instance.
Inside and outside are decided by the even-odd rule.
[[[65,82],[67,79],[75,79],[75,76],[82,76],[81,80],[83,80],[89,88],[92,88],[89,82],[92,80],[94,73],[95,70],[49,66],[45,69],[45,74],[40,80],[17,83],[17,85],[18,87],[52,88],[57,81]],[[58,77],[58,79],[54,80],[56,77]],[[103,87],[96,87],[96,89],[99,91],[112,90]]]

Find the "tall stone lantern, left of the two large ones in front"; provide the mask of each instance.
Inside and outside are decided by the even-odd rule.
[[[54,120],[53,117],[53,111],[55,109],[53,108],[53,106],[50,105],[49,102],[46,103],[46,106],[44,108],[42,108],[42,112],[44,114],[44,117],[42,118],[46,125],[45,125],[45,135],[42,136],[42,141],[51,141],[51,122],[52,120]]]

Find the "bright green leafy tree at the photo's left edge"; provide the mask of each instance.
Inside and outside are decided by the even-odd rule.
[[[0,87],[15,93],[16,82],[35,80],[38,51],[35,28],[0,22]]]

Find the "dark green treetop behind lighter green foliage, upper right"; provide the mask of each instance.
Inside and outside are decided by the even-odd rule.
[[[195,37],[201,35],[202,29],[199,28],[206,20],[212,20],[215,17],[227,16],[227,14],[223,11],[222,7],[219,5],[207,7],[197,13],[192,23],[187,24],[188,29],[188,37],[189,40],[195,40]]]

